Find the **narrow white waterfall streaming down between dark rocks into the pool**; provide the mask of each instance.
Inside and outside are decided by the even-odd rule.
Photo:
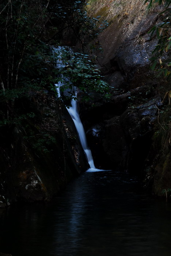
[[[62,63],[61,56],[60,56],[60,51],[62,49],[65,49],[65,48],[62,47],[62,46],[59,46],[58,48],[53,48],[52,49],[53,50],[53,54],[55,52],[57,52],[57,54],[58,54],[58,58],[56,60],[56,67],[57,68],[65,66]],[[66,79],[64,77],[63,77],[63,79],[64,79],[64,82],[58,82],[57,84],[55,84],[56,90],[57,90],[57,93],[58,93],[58,98],[61,97],[60,87],[65,84],[65,81],[68,81],[68,79]],[[75,92],[75,95],[77,95],[77,89],[73,88],[73,90]],[[86,154],[86,157],[87,157],[87,161],[88,161],[88,163],[90,165],[90,169],[88,169],[88,170],[89,171],[98,170],[98,169],[96,169],[96,167],[94,165],[94,161],[93,161],[93,158],[92,158],[91,150],[90,150],[90,148],[88,147],[88,144],[87,144],[86,133],[84,131],[83,124],[81,123],[79,112],[78,112],[78,109],[77,109],[77,100],[76,99],[72,99],[71,100],[71,107],[66,108],[66,109],[68,110],[70,116],[72,117],[72,120],[73,120],[73,122],[75,124],[75,127],[76,127],[76,130],[77,130],[77,133],[79,135],[81,146],[83,147],[83,150],[84,150],[84,152]]]

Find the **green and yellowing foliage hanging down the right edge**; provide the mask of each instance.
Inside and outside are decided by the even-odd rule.
[[[163,95],[163,101],[160,109],[158,109],[153,143],[155,148],[158,151],[160,150],[161,155],[167,155],[171,146],[171,0],[151,0],[147,2],[149,2],[148,8],[161,5],[159,19],[149,31],[151,37],[156,35],[158,39],[157,45],[152,52],[151,68],[157,71],[161,79],[164,78],[163,85],[158,89],[159,94]],[[167,193],[166,189],[165,192]]]

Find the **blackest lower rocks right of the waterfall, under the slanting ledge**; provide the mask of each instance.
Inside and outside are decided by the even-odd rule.
[[[126,94],[125,98],[127,96]],[[153,124],[159,104],[159,98],[156,97],[135,108],[126,108],[120,116],[114,114],[112,118],[105,120],[102,120],[99,108],[96,107],[93,111],[96,116],[94,125],[90,110],[85,123],[87,127],[88,124],[91,125],[87,131],[87,138],[95,166],[103,169],[129,170],[140,174],[151,146]]]

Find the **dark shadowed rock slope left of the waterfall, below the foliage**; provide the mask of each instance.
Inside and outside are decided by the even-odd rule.
[[[0,207],[20,200],[49,200],[88,169],[75,125],[62,102],[48,93],[31,93],[24,109],[35,113],[24,130],[14,125],[1,133]]]

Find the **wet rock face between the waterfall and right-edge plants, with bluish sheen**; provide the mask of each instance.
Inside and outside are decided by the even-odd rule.
[[[155,22],[156,14],[153,13],[123,37],[121,24],[118,27],[111,24],[102,34],[106,36],[102,41],[104,58],[99,59],[100,70],[111,87],[112,96],[110,102],[94,99],[94,104],[80,104],[81,118],[97,167],[143,175],[157,108],[161,104],[155,91],[159,80],[150,70],[149,61],[157,41],[155,37],[149,37],[148,31]],[[97,136],[94,128],[98,125],[100,132]]]

